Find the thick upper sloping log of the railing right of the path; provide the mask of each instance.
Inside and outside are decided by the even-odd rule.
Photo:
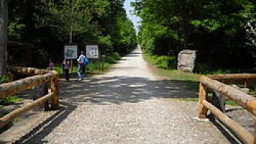
[[[227,96],[229,99],[236,102],[241,107],[256,115],[256,99],[255,97],[245,94],[232,86],[220,83],[217,80],[211,80],[211,78],[206,76],[200,77],[200,82],[203,83],[207,88],[211,88],[214,91],[219,92],[223,96]]]

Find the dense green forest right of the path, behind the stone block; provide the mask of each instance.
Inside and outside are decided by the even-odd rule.
[[[256,1],[137,0],[132,5],[142,18],[139,42],[146,53],[176,57],[183,49],[197,50],[199,71],[255,67]]]

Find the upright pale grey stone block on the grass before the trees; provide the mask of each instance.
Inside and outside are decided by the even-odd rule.
[[[197,50],[182,50],[178,53],[177,69],[183,72],[193,72]]]

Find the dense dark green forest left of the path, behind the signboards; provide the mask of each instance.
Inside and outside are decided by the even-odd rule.
[[[136,34],[124,0],[10,0],[8,40],[33,45],[36,66],[61,62],[64,45],[98,44],[106,56],[129,53]]]

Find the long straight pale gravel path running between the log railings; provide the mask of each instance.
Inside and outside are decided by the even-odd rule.
[[[17,143],[232,143],[196,102],[171,99],[196,95],[158,80],[139,48],[106,75],[60,83],[60,96],[59,113]]]

